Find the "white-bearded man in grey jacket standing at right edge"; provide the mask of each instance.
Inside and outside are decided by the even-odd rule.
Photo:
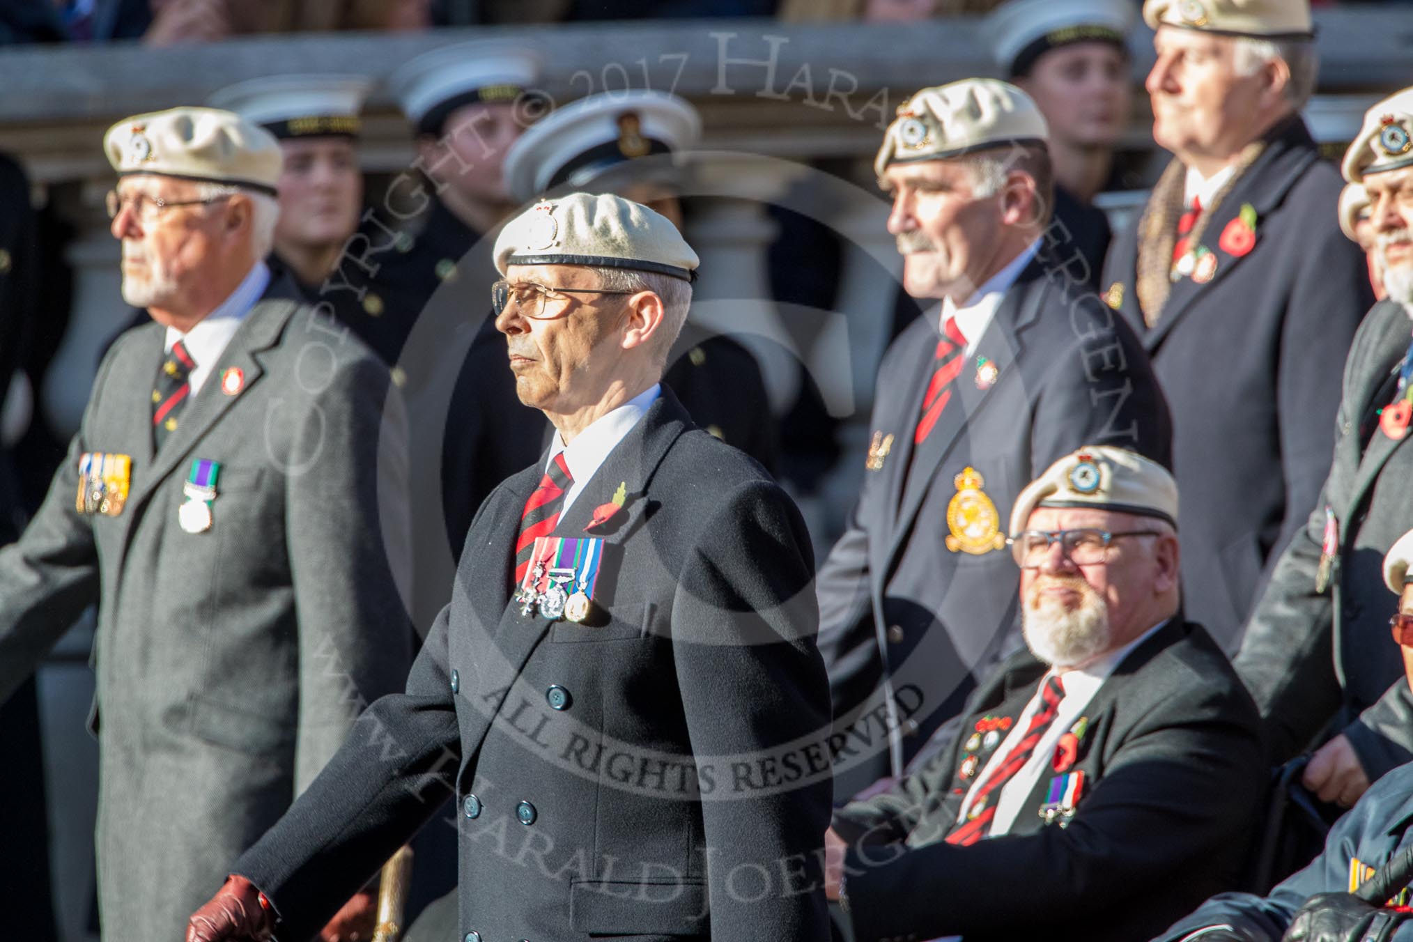
[[[1381,569],[1413,525],[1413,89],[1369,109],[1344,175],[1368,191],[1388,298],[1349,349],[1320,503],[1282,555],[1235,664],[1260,708],[1272,758],[1328,740],[1304,782],[1348,808],[1413,761],[1413,695],[1397,660],[1385,657]]]

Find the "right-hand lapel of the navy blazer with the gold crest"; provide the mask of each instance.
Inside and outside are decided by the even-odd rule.
[[[1016,284],[1006,291],[1000,306],[986,326],[975,353],[952,383],[952,401],[942,410],[942,417],[937,427],[916,449],[916,455],[909,455],[914,466],[903,469],[906,486],[903,489],[903,503],[897,518],[889,528],[889,549],[885,566],[879,569],[879,585],[886,579],[887,571],[901,551],[909,530],[921,510],[923,501],[933,487],[945,487],[950,482],[938,484],[933,480],[937,469],[955,451],[957,445],[969,438],[969,432],[979,421],[982,410],[995,398],[998,388],[1005,384],[1020,383],[1022,378],[1015,369],[1022,352],[1022,332],[1036,318],[1040,311],[1040,301],[1046,291],[1046,260],[1037,256],[1022,271]],[[996,381],[982,388],[976,383],[976,360],[986,357],[996,367]],[[918,397],[921,403],[921,397]],[[910,436],[911,438],[911,436]],[[901,462],[900,462],[901,465]]]

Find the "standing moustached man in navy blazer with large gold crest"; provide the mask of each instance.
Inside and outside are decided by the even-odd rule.
[[[965,79],[904,102],[873,164],[903,285],[934,306],[883,357],[863,487],[820,569],[841,798],[935,751],[1019,645],[1015,496],[1084,443],[1170,459],[1137,338],[1046,237],[1046,140],[1030,96]]]

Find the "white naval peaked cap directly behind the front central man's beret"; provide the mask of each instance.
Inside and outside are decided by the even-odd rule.
[[[506,154],[506,188],[513,199],[526,202],[557,186],[582,189],[632,160],[663,155],[671,165],[697,144],[701,131],[697,109],[675,95],[592,95],[520,136]]]

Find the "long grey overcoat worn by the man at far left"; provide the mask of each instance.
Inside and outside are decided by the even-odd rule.
[[[99,606],[97,866],[113,938],[182,938],[362,703],[407,674],[387,558],[403,552],[404,425],[396,401],[384,419],[386,369],[288,291],[250,311],[155,455],[162,328],[120,336],[48,497],[0,551],[0,698]],[[227,367],[243,374],[235,394]],[[117,515],[78,513],[82,452],[131,458]],[[213,524],[196,534],[177,517],[194,459],[220,463]]]

